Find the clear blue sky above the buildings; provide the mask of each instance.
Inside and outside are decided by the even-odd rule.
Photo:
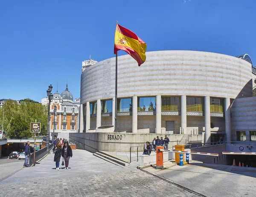
[[[114,57],[116,20],[147,51],[248,53],[255,65],[255,10],[254,0],[0,1],[0,99],[41,101],[57,82],[79,98],[81,62]]]

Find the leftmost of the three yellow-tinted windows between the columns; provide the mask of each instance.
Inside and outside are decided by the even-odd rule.
[[[180,111],[180,97],[162,97],[162,111]]]

